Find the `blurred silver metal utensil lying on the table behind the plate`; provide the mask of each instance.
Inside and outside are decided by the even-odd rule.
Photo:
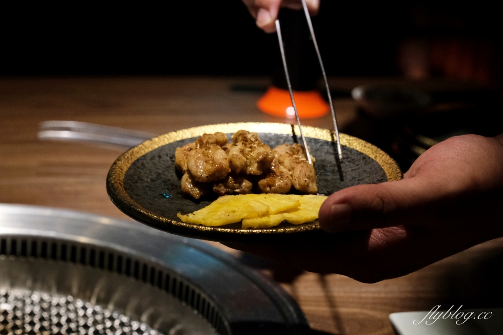
[[[78,121],[44,121],[37,137],[41,140],[92,142],[133,147],[155,134]]]

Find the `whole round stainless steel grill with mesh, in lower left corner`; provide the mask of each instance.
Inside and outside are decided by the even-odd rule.
[[[0,335],[310,331],[280,287],[206,243],[66,210],[0,204],[0,290]]]

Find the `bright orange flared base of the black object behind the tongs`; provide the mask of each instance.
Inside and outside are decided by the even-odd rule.
[[[297,106],[299,118],[319,118],[330,110],[318,91],[294,91],[293,98]],[[257,102],[257,107],[264,113],[274,116],[295,118],[290,93],[275,87],[269,88],[266,94]]]

